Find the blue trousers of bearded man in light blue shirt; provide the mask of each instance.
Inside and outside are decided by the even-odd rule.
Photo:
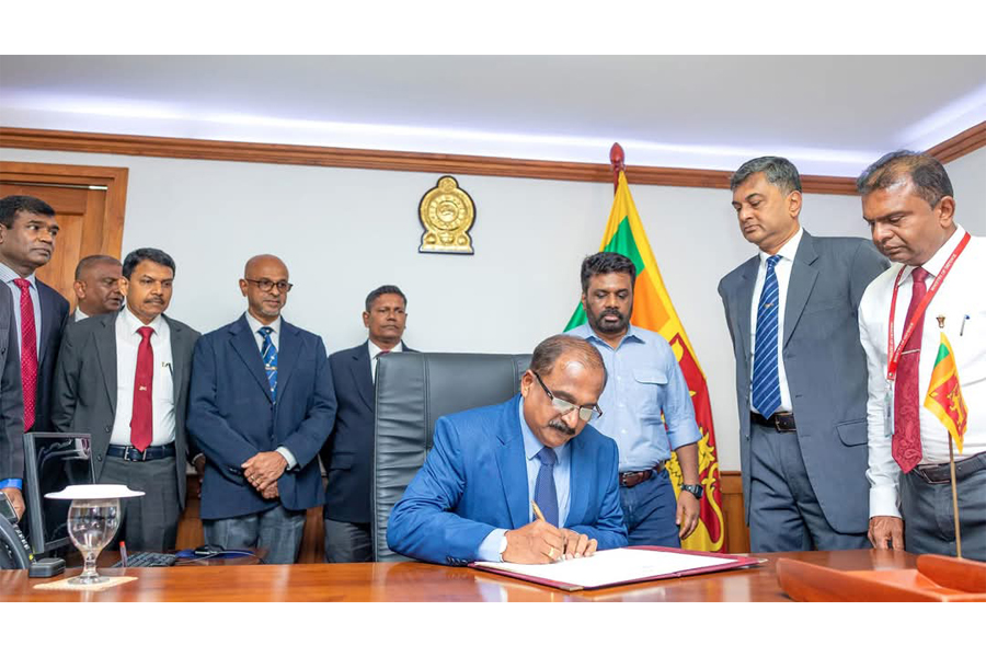
[[[678,500],[666,470],[632,488],[620,486],[620,506],[631,545],[681,546],[675,525]]]

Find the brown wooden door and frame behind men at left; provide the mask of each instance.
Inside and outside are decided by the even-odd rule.
[[[87,255],[121,257],[127,170],[0,162],[0,197],[36,196],[53,208],[60,230],[55,253],[37,277],[76,306],[76,265]]]

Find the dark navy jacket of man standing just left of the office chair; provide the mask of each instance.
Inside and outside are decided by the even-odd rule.
[[[414,351],[401,344],[405,351]],[[367,343],[336,351],[329,366],[339,408],[321,451],[329,476],[324,515],[342,522],[369,522],[376,397]]]

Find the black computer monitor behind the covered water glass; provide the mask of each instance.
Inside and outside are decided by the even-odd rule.
[[[24,434],[24,500],[27,512],[21,526],[41,555],[68,545],[68,508],[71,502],[48,499],[47,493],[76,484],[92,484],[89,434]]]

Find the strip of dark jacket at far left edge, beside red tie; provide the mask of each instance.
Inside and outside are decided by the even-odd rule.
[[[0,481],[24,476],[24,390],[10,288],[0,290]]]

